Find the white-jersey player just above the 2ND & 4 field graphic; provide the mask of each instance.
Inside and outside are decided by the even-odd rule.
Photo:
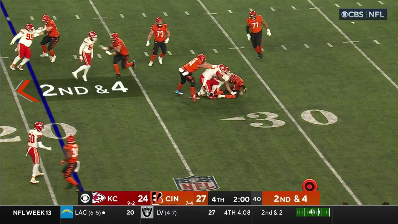
[[[88,32],[88,37],[84,38],[83,43],[79,48],[79,60],[80,62],[84,62],[84,65],[80,66],[76,71],[72,72],[72,75],[75,79],[77,79],[77,73],[84,70],[83,73],[83,81],[87,82],[87,73],[88,69],[91,67],[91,60],[94,57],[93,46],[96,43],[98,36],[96,32],[90,31]]]

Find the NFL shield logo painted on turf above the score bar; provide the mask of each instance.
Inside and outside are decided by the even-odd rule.
[[[216,179],[214,179],[214,176],[190,176],[184,178],[173,178],[173,180],[180,191],[214,191],[220,188]]]

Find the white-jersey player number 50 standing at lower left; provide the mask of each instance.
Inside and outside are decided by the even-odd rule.
[[[40,173],[39,171],[40,154],[38,148],[51,151],[51,147],[46,147],[41,143],[41,137],[43,137],[43,134],[41,134],[42,131],[44,131],[44,124],[42,122],[36,122],[34,128],[29,130],[29,137],[27,140],[26,155],[29,154],[33,161],[32,178],[30,179],[30,183],[32,184],[39,183],[35,178],[44,175],[44,173]]]

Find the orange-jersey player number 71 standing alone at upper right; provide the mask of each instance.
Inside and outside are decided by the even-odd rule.
[[[271,36],[271,31],[269,30],[268,24],[265,22],[262,16],[257,15],[255,11],[250,11],[250,17],[246,18],[246,33],[248,36],[248,41],[252,40],[252,45],[256,52],[258,53],[258,59],[263,59],[263,47],[261,45],[261,40],[263,39],[263,30],[261,29],[261,24],[267,29],[267,35]]]

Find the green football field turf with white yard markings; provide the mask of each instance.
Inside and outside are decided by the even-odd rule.
[[[398,204],[398,17],[353,24],[339,21],[339,8],[397,12],[398,1],[2,0],[1,204],[78,203],[60,165],[70,134],[86,191],[302,191],[310,178],[321,204]],[[263,28],[263,60],[246,37],[251,9],[272,33]],[[39,57],[39,36],[34,73],[30,65],[12,71],[9,22],[17,32],[27,23],[37,29],[44,14],[60,32],[57,60]],[[171,32],[168,53],[148,67],[146,38],[159,16]],[[88,82],[82,73],[74,79],[89,31],[104,46],[119,33],[137,66],[112,79],[113,56],[96,45]],[[175,94],[178,68],[199,53],[228,66],[248,91],[194,103],[186,83]],[[203,71],[194,73],[196,90]],[[39,102],[17,93],[25,84]],[[24,155],[37,121],[52,151],[39,149],[46,175],[31,185]],[[190,176],[203,178],[183,179]]]

